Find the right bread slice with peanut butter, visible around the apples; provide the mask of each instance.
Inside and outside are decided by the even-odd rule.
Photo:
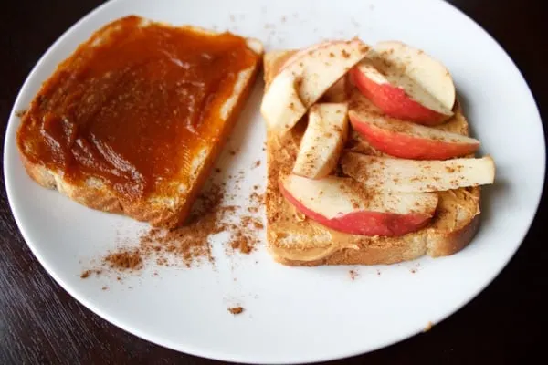
[[[265,83],[295,51],[274,51],[264,57]],[[353,91],[351,91],[352,94]],[[469,134],[468,121],[458,103],[455,116],[436,127]],[[347,235],[317,224],[286,201],[279,192],[279,173],[290,173],[306,120],[283,137],[267,131],[267,235],[270,254],[290,266],[376,265],[412,260],[422,255],[452,255],[469,244],[479,227],[479,187],[439,192],[437,212],[426,228],[396,237]],[[352,132],[346,151],[383,155]]]

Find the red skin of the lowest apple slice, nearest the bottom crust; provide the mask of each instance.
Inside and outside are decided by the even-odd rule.
[[[434,212],[432,214],[394,214],[359,211],[329,219],[311,211],[300,203],[284,188],[283,183],[279,183],[279,190],[300,213],[305,214],[311,220],[334,231],[350,235],[380,235],[385,237],[406,235],[426,226],[434,214]]]

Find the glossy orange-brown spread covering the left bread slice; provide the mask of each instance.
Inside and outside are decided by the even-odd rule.
[[[72,183],[90,177],[122,199],[170,193],[215,144],[238,74],[257,63],[246,39],[127,16],[104,26],[47,79],[17,143]]]

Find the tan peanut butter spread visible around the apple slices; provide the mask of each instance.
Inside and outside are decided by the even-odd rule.
[[[288,52],[287,55],[274,56],[275,61],[272,64],[269,64],[269,59],[265,60],[267,85],[278,72],[280,65],[291,54],[291,52]],[[454,111],[455,115],[451,120],[435,128],[467,135],[468,122],[464,118],[458,103]],[[300,262],[321,260],[342,249],[359,250],[367,247],[371,249],[370,253],[374,255],[376,249],[393,247],[394,252],[397,253],[398,247],[406,245],[402,237],[371,237],[334,231],[300,214],[279,192],[279,175],[291,172],[299,151],[300,139],[305,130],[306,120],[300,120],[283,137],[279,137],[274,132],[268,133],[268,185],[265,201],[267,204],[267,235],[269,235],[270,252],[284,259]],[[364,139],[360,138],[357,133],[351,133],[349,141],[345,144],[345,150],[383,155],[382,152],[375,150]],[[476,212],[478,191],[479,188],[467,188],[438,192],[438,211],[427,229],[409,233],[406,236],[413,237],[414,241],[419,242],[427,238],[429,230],[442,232],[458,230],[462,224],[467,222],[462,219],[462,216],[468,214],[473,216],[479,213]],[[458,202],[458,208],[454,206],[456,202]]]

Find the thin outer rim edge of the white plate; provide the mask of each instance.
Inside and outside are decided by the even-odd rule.
[[[68,37],[76,28],[82,26],[85,22],[89,21],[92,17],[94,17],[97,13],[100,13],[103,11],[104,8],[111,6],[114,3],[122,2],[126,0],[109,0],[101,5],[96,6],[95,8],[91,9],[87,14],[84,16],[81,16],[75,23],[73,23],[71,26],[68,27],[67,30],[65,30],[58,38],[49,46],[47,49],[42,53],[42,55],[37,60],[37,63],[35,66],[31,69],[31,71],[27,74],[25,80],[21,84],[20,89],[17,92],[16,99],[13,101],[12,109],[10,110],[8,122],[6,124],[6,130],[5,130],[5,141],[4,141],[4,157],[3,157],[3,172],[4,172],[4,178],[5,178],[5,191],[7,196],[7,201],[10,206],[10,210],[12,212],[12,215],[14,216],[14,219],[16,221],[17,228],[19,230],[19,233],[22,235],[23,239],[25,240],[25,243],[29,250],[32,252],[32,254],[37,259],[40,266],[44,268],[47,275],[51,276],[55,282],[58,284],[59,287],[62,287],[65,292],[68,293],[70,297],[73,299],[76,299],[79,301],[81,305],[84,307],[90,309],[90,311],[100,318],[110,322],[112,325],[121,328],[122,330],[128,332],[129,334],[139,338],[143,339],[147,342],[151,342],[157,346],[160,346],[164,349],[172,349],[177,352],[186,353],[192,356],[198,356],[205,359],[211,359],[211,360],[223,360],[223,361],[231,361],[231,362],[242,362],[242,363],[254,363],[255,361],[253,359],[250,359],[249,357],[246,357],[246,355],[242,356],[241,354],[236,353],[221,353],[220,351],[216,352],[207,352],[206,350],[197,349],[193,347],[188,347],[184,343],[174,343],[174,341],[163,341],[163,343],[160,343],[154,336],[149,336],[146,333],[143,333],[141,329],[139,328],[133,328],[129,324],[124,324],[124,321],[119,321],[115,316],[111,316],[107,311],[103,311],[100,308],[97,308],[97,306],[94,304],[93,300],[88,299],[87,297],[80,296],[76,293],[76,290],[73,290],[62,278],[58,275],[58,273],[51,268],[51,266],[47,263],[47,260],[44,259],[41,255],[37,253],[37,248],[34,244],[31,244],[28,236],[26,234],[26,226],[22,224],[20,213],[18,212],[21,208],[16,208],[16,203],[14,203],[14,197],[13,197],[13,190],[15,189],[14,186],[11,185],[10,179],[8,178],[8,175],[10,172],[8,172],[8,165],[10,165],[10,162],[7,162],[7,147],[8,147],[8,130],[12,130],[14,127],[14,123],[16,123],[16,105],[21,103],[21,99],[23,98],[23,94],[25,89],[27,89],[27,84],[31,78],[39,71],[40,68],[42,68],[42,65],[44,63],[45,58],[53,51],[54,48],[58,47],[58,44],[64,42],[64,39]],[[437,0],[429,0],[431,2],[435,2]],[[470,26],[476,26],[479,28],[481,33],[483,33],[484,36],[488,36],[490,38],[490,41],[496,45],[496,47],[499,48],[499,50],[502,52],[505,57],[507,57],[507,60],[510,61],[511,66],[517,71],[518,75],[522,79],[523,83],[525,84],[525,87],[528,91],[528,99],[532,101],[532,106],[534,107],[535,115],[537,120],[540,122],[540,127],[543,133],[545,133],[544,126],[543,126],[543,120],[542,115],[538,107],[538,102],[535,99],[534,95],[532,94],[532,89],[530,88],[529,82],[526,78],[524,78],[522,74],[522,70],[517,66],[517,64],[514,62],[513,58],[510,56],[510,54],[506,51],[504,47],[501,46],[501,44],[497,41],[494,36],[491,36],[490,32],[488,32],[483,26],[480,26],[478,22],[476,22],[471,16],[464,13],[464,11],[460,10],[456,5],[443,1],[442,3],[445,3],[445,5],[448,5],[450,8],[452,8],[452,11],[456,11],[460,14],[460,16],[464,16],[468,19]],[[457,304],[454,304],[451,306],[451,309],[445,312],[445,315],[441,316],[437,323],[440,323],[442,321],[447,320],[449,317],[452,317],[456,313],[458,313],[463,308],[467,307],[469,303],[479,297],[479,295],[487,288],[489,287],[492,282],[498,278],[501,275],[502,270],[508,266],[511,263],[511,260],[516,255],[517,251],[522,247],[522,244],[526,238],[526,236],[529,234],[532,228],[532,224],[535,221],[535,218],[537,217],[537,214],[540,209],[540,205],[542,203],[543,193],[546,189],[546,141],[543,141],[543,154],[542,154],[542,172],[543,172],[543,179],[540,186],[540,193],[538,196],[536,196],[536,202],[535,202],[535,208],[532,211],[532,216],[530,219],[528,219],[528,223],[526,224],[527,228],[521,233],[522,238],[519,240],[519,243],[515,245],[515,247],[511,250],[511,255],[508,255],[507,260],[502,263],[499,269],[493,270],[490,272],[490,277],[488,280],[485,281],[484,285],[477,286],[476,290],[473,291],[473,294],[470,294],[467,296],[466,299],[464,299],[462,302]],[[356,351],[332,351],[332,353],[338,353],[338,355],[331,356],[329,358],[325,357],[318,357],[314,356],[314,354],[306,354],[302,355],[300,354],[299,361],[282,361],[281,363],[313,363],[313,362],[319,362],[319,361],[326,361],[326,360],[342,360],[347,359],[353,356],[358,355],[365,355],[367,353],[373,352],[378,349],[384,349],[386,347],[396,345],[399,342],[402,342],[403,340],[410,339],[412,337],[415,337],[418,335],[422,330],[408,330],[406,333],[399,332],[398,336],[393,336],[392,340],[387,340],[384,344],[379,344],[374,347],[369,347],[366,351],[362,350],[356,350]],[[166,342],[170,342],[169,344]],[[265,361],[262,359],[260,361],[261,363],[280,363],[279,361],[273,362],[273,361]]]

